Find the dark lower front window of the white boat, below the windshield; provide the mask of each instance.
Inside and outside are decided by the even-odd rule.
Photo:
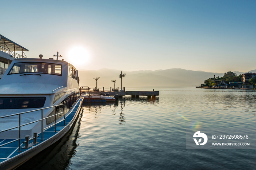
[[[44,107],[45,97],[0,97],[0,109]]]

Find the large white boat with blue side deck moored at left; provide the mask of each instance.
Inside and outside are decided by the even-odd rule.
[[[53,59],[15,59],[0,79],[0,169],[15,169],[61,139],[82,105],[78,71]]]

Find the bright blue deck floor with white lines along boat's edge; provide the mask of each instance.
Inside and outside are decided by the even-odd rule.
[[[78,103],[76,104],[76,106],[74,106],[74,109],[72,110],[72,112],[67,116],[67,117],[65,117],[65,123],[66,123],[66,125],[64,125],[64,120],[63,121],[61,121],[61,122],[59,122],[59,123],[57,123],[57,127],[56,127],[56,131],[57,132],[55,132],[55,126],[52,126],[52,127],[50,127],[49,129],[46,129],[45,131],[44,131],[44,133],[43,133],[43,139],[44,139],[44,141],[46,141],[46,139],[49,139],[50,137],[52,137],[53,135],[55,135],[56,133],[58,133],[60,130],[62,130],[65,126],[67,126],[67,124],[69,123],[69,122],[71,122],[71,120],[74,118],[74,116],[75,116],[75,114],[76,114],[76,111],[78,110],[78,108],[79,108],[79,104],[80,104],[80,101],[81,101],[82,99],[79,99],[78,100]],[[44,141],[41,141],[41,133],[40,134],[38,134],[39,135],[39,137],[37,138],[37,142],[39,142],[39,143],[41,143],[41,142],[44,142]],[[13,141],[13,140],[15,140],[15,139],[0,139],[0,145],[2,145],[2,144],[4,144],[4,143],[7,143],[7,142],[10,142],[10,141]],[[23,147],[24,146],[24,144],[22,144],[22,141],[25,141],[25,138],[23,138],[23,139],[21,139],[20,140],[21,142],[21,147]],[[32,143],[33,142],[33,140],[31,140],[30,141],[30,143]],[[39,144],[38,143],[38,144]],[[36,144],[36,145],[34,145],[34,146],[32,146],[32,147],[35,147],[35,146],[37,146],[38,144]],[[27,149],[22,149],[22,148],[20,148],[20,150],[22,151],[22,152],[18,152],[18,150],[19,150],[19,141],[15,141],[15,142],[12,142],[12,143],[9,143],[9,144],[7,144],[7,145],[4,145],[4,146],[2,146],[2,147],[0,147],[0,163],[1,162],[3,162],[3,161],[5,161],[5,160],[7,160],[7,159],[9,159],[9,158],[12,158],[12,157],[14,157],[14,156],[16,156],[16,155],[18,155],[18,154],[20,154],[20,153],[23,153],[24,151],[26,151]]]

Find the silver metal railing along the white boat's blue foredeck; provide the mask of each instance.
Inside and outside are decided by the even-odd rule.
[[[57,113],[57,106],[63,106],[63,112]],[[44,110],[44,109],[47,109],[47,108],[52,108],[52,107],[55,107],[55,114],[44,118],[44,117],[43,117],[43,110]],[[25,123],[25,124],[21,124],[21,123],[20,123],[21,115],[22,115],[22,114],[29,113],[29,112],[34,112],[34,111],[40,111],[40,110],[41,110],[41,119],[35,120],[35,121],[33,121],[33,122]],[[64,113],[64,114],[63,114],[63,113]],[[63,114],[63,119],[62,119],[62,120],[59,120],[58,122],[56,122],[56,120],[57,120],[57,119],[56,119],[56,116],[59,115],[59,114]],[[4,144],[0,145],[0,147],[1,147],[1,146],[4,146],[4,145],[7,145],[7,144],[9,144],[9,143],[15,142],[15,141],[19,141],[19,150],[18,150],[18,152],[21,152],[21,150],[20,150],[20,143],[21,143],[21,142],[20,142],[20,140],[21,140],[21,138],[20,138],[20,131],[21,131],[21,127],[22,127],[22,126],[26,126],[26,125],[28,125],[28,124],[32,124],[32,123],[41,121],[41,141],[44,141],[44,139],[43,139],[43,131],[44,131],[45,129],[48,129],[48,128],[50,128],[50,127],[52,127],[52,126],[55,125],[55,132],[57,132],[57,131],[56,131],[57,123],[59,123],[59,122],[61,122],[61,121],[63,121],[63,120],[64,120],[64,125],[66,125],[66,122],[65,122],[65,112],[64,112],[64,104],[59,104],[59,105],[55,105],[55,106],[40,108],[40,109],[36,109],[36,110],[31,110],[31,111],[20,112],[20,113],[11,114],[11,115],[6,115],[6,116],[0,116],[0,119],[1,119],[1,118],[11,117],[11,116],[16,116],[16,115],[19,115],[19,126],[15,126],[15,127],[11,127],[11,128],[5,129],[5,130],[1,130],[0,133],[1,133],[1,132],[8,131],[8,130],[12,130],[12,129],[19,128],[19,138],[18,138],[18,139],[15,139],[15,140],[13,140],[13,141],[4,143]],[[53,117],[53,116],[55,116],[55,123],[44,128],[44,127],[43,127],[43,120],[44,120],[44,119],[48,119],[48,118]],[[32,138],[31,138],[31,139],[32,139]]]

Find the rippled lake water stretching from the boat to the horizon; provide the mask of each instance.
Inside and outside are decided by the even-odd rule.
[[[255,150],[185,146],[186,128],[255,129],[255,90],[154,88],[155,100],[83,106],[69,134],[19,169],[256,169]]]

